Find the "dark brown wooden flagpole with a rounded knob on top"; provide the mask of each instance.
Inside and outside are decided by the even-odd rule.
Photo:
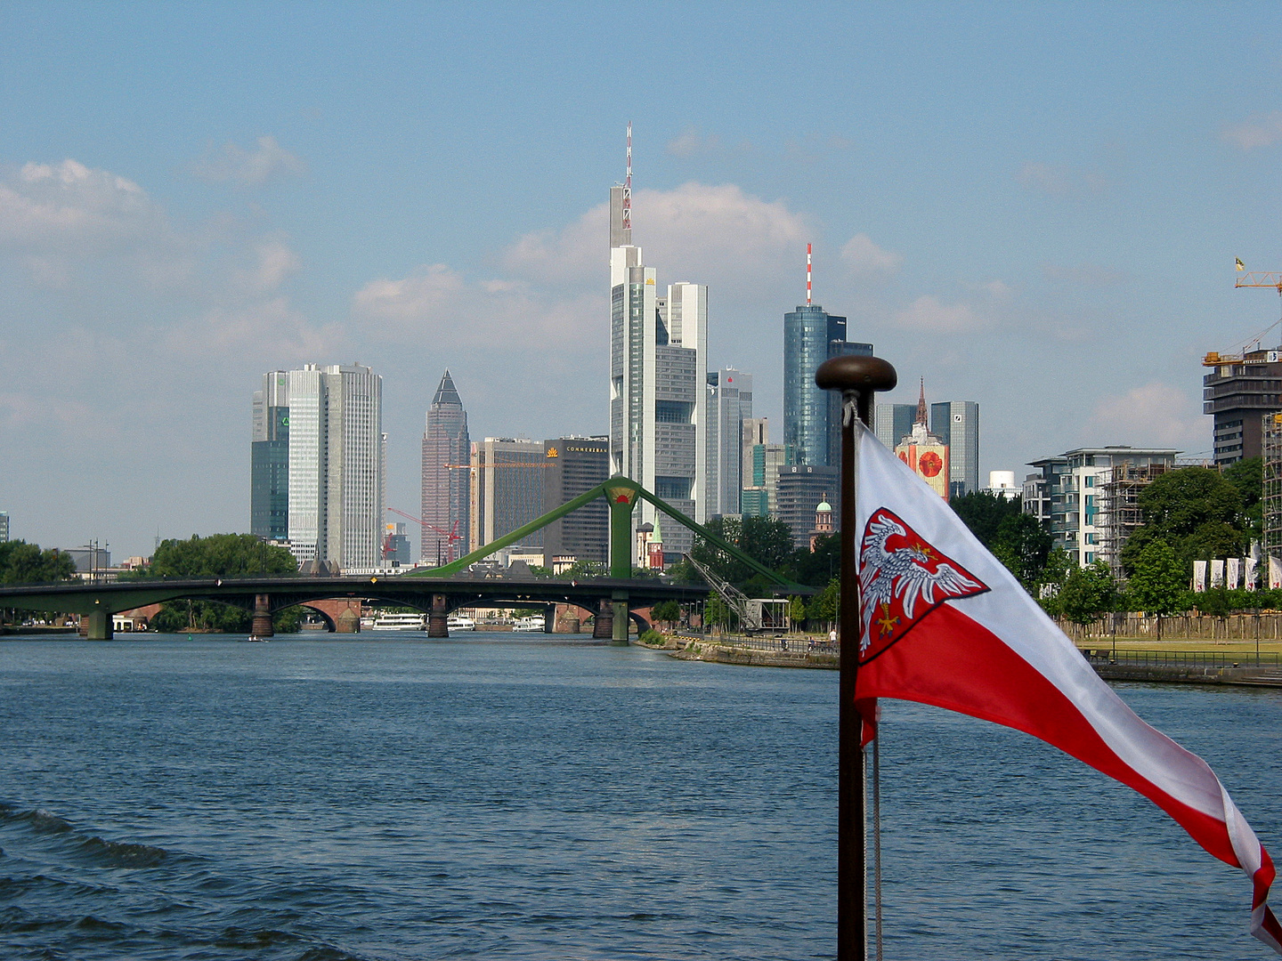
[[[864,829],[863,721],[855,709],[859,671],[858,416],[870,425],[873,395],[892,390],[895,368],[879,357],[829,357],[814,374],[841,391],[841,670],[837,707],[837,961],[868,957],[868,857]]]

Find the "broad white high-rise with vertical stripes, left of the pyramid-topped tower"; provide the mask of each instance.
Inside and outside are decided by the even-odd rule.
[[[300,564],[379,563],[382,378],[362,364],[288,372],[290,550]]]

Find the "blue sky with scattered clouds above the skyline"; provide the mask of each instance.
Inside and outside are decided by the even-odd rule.
[[[626,14],[626,17],[624,17]],[[605,428],[604,202],[710,287],[782,427],[782,314],[981,404],[982,469],[1210,448],[1199,357],[1279,315],[1282,8],[0,3],[0,510],[118,556],[249,525],[249,401],[383,374],[418,502],[472,433]],[[1272,343],[1282,340],[1274,331]]]

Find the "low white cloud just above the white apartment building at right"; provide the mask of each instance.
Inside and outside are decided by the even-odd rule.
[[[1208,443],[1205,418],[1188,393],[1154,381],[1101,400],[1082,431],[1088,443],[1154,445],[1191,451]]]

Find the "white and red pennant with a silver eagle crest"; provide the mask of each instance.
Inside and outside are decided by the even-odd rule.
[[[859,431],[856,698],[1023,730],[1135,788],[1254,885],[1251,934],[1282,953],[1273,861],[1210,766],[1145,724],[947,504]],[[870,725],[869,725],[870,727]]]

